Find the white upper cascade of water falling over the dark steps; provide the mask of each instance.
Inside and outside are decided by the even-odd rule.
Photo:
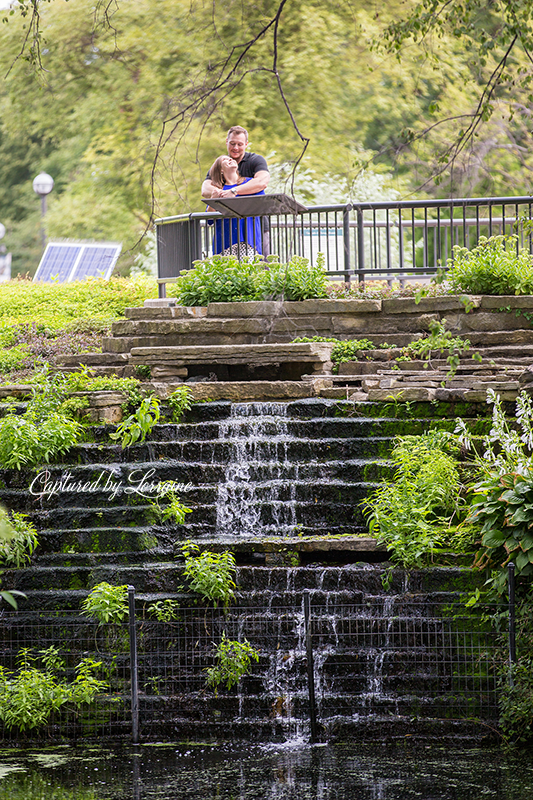
[[[298,522],[298,464],[287,453],[287,404],[234,403],[219,438],[230,459],[217,491],[217,537],[289,535]]]

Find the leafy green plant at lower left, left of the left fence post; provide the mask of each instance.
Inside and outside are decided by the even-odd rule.
[[[76,667],[73,682],[66,683],[58,677],[64,664],[56,648],[41,651],[41,661],[42,670],[35,666],[31,650],[23,648],[16,672],[0,667],[0,719],[6,728],[26,731],[41,727],[66,703],[77,708],[109,688],[95,675],[101,662],[84,658]]]

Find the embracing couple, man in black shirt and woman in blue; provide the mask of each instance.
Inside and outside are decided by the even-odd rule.
[[[247,153],[248,132],[240,125],[229,129],[228,154],[219,156],[202,184],[202,197],[244,197],[264,194],[270,180],[263,156]],[[217,220],[213,251],[239,257],[262,253],[261,218]]]

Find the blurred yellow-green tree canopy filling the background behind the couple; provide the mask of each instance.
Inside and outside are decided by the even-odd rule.
[[[0,220],[14,263],[35,269],[31,181],[45,170],[48,235],[121,240],[127,268],[154,214],[203,208],[232,124],[271,163],[297,161],[309,140],[301,166],[336,191],[370,169],[394,171],[404,194],[528,192],[528,48],[512,49],[483,100],[508,5],[485,19],[479,3],[441,0],[19,2],[0,29]]]

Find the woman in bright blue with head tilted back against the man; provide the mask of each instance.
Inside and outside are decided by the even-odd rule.
[[[211,182],[224,190],[222,197],[238,197],[237,189],[243,183],[248,183],[251,178],[242,178],[239,175],[237,162],[230,156],[219,156],[209,170]],[[246,197],[255,197],[264,194],[248,194]],[[209,208],[208,211],[213,209]],[[215,240],[213,252],[222,255],[248,256],[262,254],[261,217],[246,217],[246,219],[224,219],[215,222]]]

